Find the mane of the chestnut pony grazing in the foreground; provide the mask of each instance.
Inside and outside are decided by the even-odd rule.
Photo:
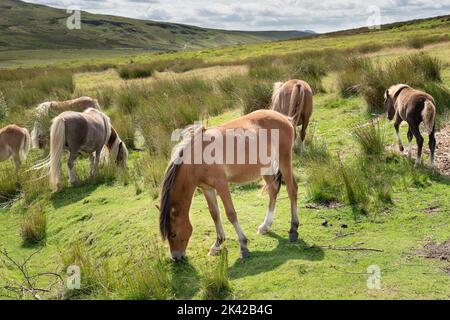
[[[178,169],[182,165],[184,151],[190,146],[192,139],[199,136],[204,130],[203,126],[189,126],[182,132],[183,140],[175,146],[169,166],[167,167],[164,180],[161,184],[161,202],[159,206],[159,230],[163,240],[170,234],[170,191],[177,177]]]

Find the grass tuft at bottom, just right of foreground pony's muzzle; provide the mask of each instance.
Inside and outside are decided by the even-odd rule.
[[[223,248],[216,261],[209,266],[201,278],[202,297],[205,300],[223,300],[231,294],[228,280],[228,250]]]

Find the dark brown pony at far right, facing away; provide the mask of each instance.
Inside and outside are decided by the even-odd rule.
[[[431,154],[431,165],[434,165],[434,151],[436,149],[435,139],[435,118],[436,118],[436,103],[429,94],[415,90],[406,84],[397,84],[390,87],[385,95],[384,105],[387,109],[388,119],[392,120],[395,117],[395,131],[397,132],[398,146],[400,151],[403,151],[403,144],[400,139],[400,124],[406,121],[409,125],[408,141],[409,150],[408,157],[412,156],[412,139],[416,137],[417,142],[417,160],[416,165],[421,164],[423,137],[420,134],[419,125],[423,122],[425,132],[429,136],[429,147]]]

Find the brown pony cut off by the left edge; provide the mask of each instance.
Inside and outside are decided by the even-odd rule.
[[[30,134],[25,128],[12,124],[0,129],[0,162],[12,156],[17,173],[20,163],[27,158],[30,141]]]

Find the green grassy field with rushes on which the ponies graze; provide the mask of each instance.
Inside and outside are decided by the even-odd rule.
[[[131,150],[128,172],[105,165],[92,180],[88,160],[82,159],[82,182],[56,194],[40,172],[27,171],[45,152],[32,150],[18,181],[9,162],[0,164],[0,297],[449,299],[450,253],[439,251],[450,234],[449,140],[439,136],[437,171],[429,168],[428,155],[423,166],[414,167],[397,151],[392,123],[379,117],[384,91],[380,98],[383,89],[375,83],[401,80],[433,90],[439,130],[448,128],[448,24],[445,17],[370,33],[158,55],[86,50],[45,58],[45,52],[21,51],[20,58],[8,60],[8,53],[0,52],[7,68],[0,71],[2,127],[16,122],[31,128],[37,103],[90,95],[100,100]],[[352,73],[349,66],[358,59],[364,67]],[[401,76],[390,78],[383,68],[398,61],[426,66],[399,67]],[[136,76],[121,77],[125,69]],[[373,70],[380,79],[372,78]],[[222,205],[226,249],[219,257],[207,256],[216,234],[197,192],[188,259],[172,263],[160,241],[155,208],[172,130],[198,119],[214,126],[266,108],[273,82],[290,77],[307,79],[316,91],[307,151],[294,163],[300,240],[288,241],[284,186],[273,227],[261,236],[256,228],[268,204],[262,184],[235,185],[232,196],[250,258],[239,259]],[[406,142],[406,126],[401,131]],[[65,280],[71,264],[81,267],[80,290],[64,289],[55,276]],[[381,272],[378,289],[367,284],[373,266]],[[33,291],[52,283],[48,292]]]

